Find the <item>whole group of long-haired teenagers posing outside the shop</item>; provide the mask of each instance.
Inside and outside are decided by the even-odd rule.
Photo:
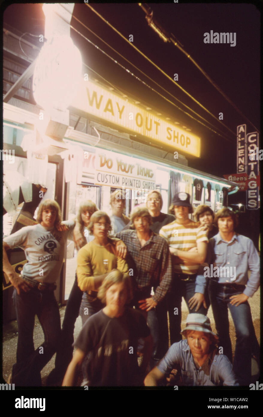
[[[161,193],[151,191],[146,206],[128,218],[115,191],[111,217],[85,201],[74,221],[62,222],[59,205],[44,200],[37,225],[4,238],[3,270],[14,286],[18,324],[9,382],[41,386],[41,369],[56,352],[48,385],[74,386],[80,370],[87,386],[165,385],[176,371],[182,385],[250,384],[251,357],[259,357],[248,304],[259,286],[258,252],[235,232],[230,209],[214,215],[200,205],[192,221],[188,193],[174,195],[170,214],[161,212],[162,203]],[[77,271],[61,329],[54,289],[67,239],[78,250]],[[15,246],[27,259],[21,275],[7,258]],[[223,273],[207,277],[207,266]],[[235,268],[234,280],[227,267]],[[181,332],[182,297],[189,315]],[[206,317],[210,304],[217,334]],[[233,366],[228,309],[236,329]],[[45,336],[37,349],[35,314]],[[79,314],[82,330],[74,342]]]

